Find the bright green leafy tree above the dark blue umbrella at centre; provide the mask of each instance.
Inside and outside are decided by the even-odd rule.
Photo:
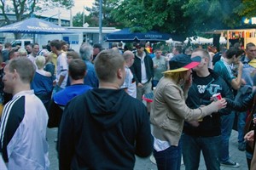
[[[184,16],[184,0],[123,0],[111,11],[117,22],[132,31],[157,30],[179,35],[179,40],[194,34],[188,29],[191,20]]]

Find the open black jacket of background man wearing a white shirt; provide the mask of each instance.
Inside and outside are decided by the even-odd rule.
[[[146,54],[146,56],[143,59],[143,62],[145,63],[148,81],[150,81],[150,79],[154,77],[153,60],[148,54]],[[136,81],[136,84],[139,82],[141,83],[142,82],[142,59],[138,57],[136,54],[134,58],[134,63],[133,65],[131,65],[130,69]]]

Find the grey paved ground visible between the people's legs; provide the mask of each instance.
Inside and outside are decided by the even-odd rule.
[[[57,128],[50,128],[47,131],[47,138],[49,142],[49,161],[50,161],[50,169],[57,170],[58,168],[58,159],[55,151],[55,142],[54,139],[57,135]],[[240,164],[238,168],[232,167],[221,167],[221,170],[247,170],[247,162],[245,152],[237,149],[237,132],[232,131],[232,135],[230,138],[230,156],[233,161],[236,161]],[[137,158],[135,170],[157,170],[157,167],[149,160],[149,157],[146,159]],[[185,167],[182,165],[181,170],[184,170]],[[199,170],[206,170],[203,158],[201,157],[201,165]]]

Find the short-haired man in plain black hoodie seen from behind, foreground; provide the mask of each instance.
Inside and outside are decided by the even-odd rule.
[[[119,88],[125,60],[115,50],[95,59],[99,88],[74,98],[59,129],[60,169],[133,169],[135,154],[150,156],[153,139],[147,109]]]

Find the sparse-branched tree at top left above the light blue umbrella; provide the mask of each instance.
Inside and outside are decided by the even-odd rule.
[[[10,12],[15,12],[16,20],[13,21],[20,21],[28,18],[34,12],[42,11],[43,8],[52,7],[71,8],[73,7],[73,0],[0,0],[0,8],[6,24],[10,24],[12,22],[12,20],[9,20],[7,15]]]

